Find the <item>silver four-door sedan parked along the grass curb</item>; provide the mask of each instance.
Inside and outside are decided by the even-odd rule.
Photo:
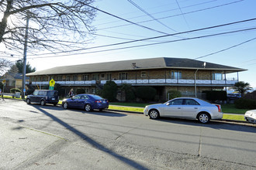
[[[164,104],[146,106],[144,115],[151,119],[157,119],[158,117],[197,119],[199,122],[206,124],[211,119],[221,119],[223,112],[220,104],[209,104],[198,98],[178,97]]]

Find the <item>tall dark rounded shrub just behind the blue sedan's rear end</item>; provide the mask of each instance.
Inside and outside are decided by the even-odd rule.
[[[117,85],[114,81],[107,81],[102,89],[102,97],[109,101],[116,101]]]

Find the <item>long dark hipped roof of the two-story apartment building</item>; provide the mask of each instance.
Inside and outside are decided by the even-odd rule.
[[[189,69],[189,70],[225,70],[227,73],[245,71],[244,69],[223,66],[215,63],[206,63],[204,68],[202,61],[195,59],[159,57],[151,59],[130,59],[106,63],[89,63],[74,66],[57,66],[47,70],[28,73],[26,76],[56,75],[71,73],[100,73],[128,70],[149,70],[149,69]]]

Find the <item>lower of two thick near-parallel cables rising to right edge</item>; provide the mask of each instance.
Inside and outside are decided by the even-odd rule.
[[[202,39],[202,38],[211,37],[211,36],[220,36],[220,35],[225,35],[225,34],[230,34],[230,33],[235,33],[235,32],[250,31],[250,30],[254,30],[254,29],[256,29],[256,27],[251,28],[251,29],[240,29],[240,30],[230,31],[230,32],[221,32],[221,33],[216,33],[216,34],[211,34],[211,35],[206,35],[206,36],[196,36],[196,37],[192,37],[192,38],[176,39],[176,40],[165,41],[165,42],[155,42],[155,43],[149,43],[149,44],[137,45],[137,46],[126,46],[126,47],[120,47],[120,48],[116,48],[116,49],[102,49],[102,50],[98,50],[98,51],[78,53],[78,54],[102,53],[102,52],[108,52],[108,51],[119,50],[119,49],[130,49],[130,48],[142,47],[142,46],[154,46],[154,45],[163,44],[163,43],[179,42],[179,41],[185,41],[185,40],[191,40],[191,39]],[[76,55],[78,55],[78,54],[76,54]],[[71,55],[74,55],[74,54],[66,54],[66,55],[61,55],[61,56],[71,56]],[[52,58],[52,57],[59,57],[59,56],[41,56],[41,57],[35,57],[33,59]]]

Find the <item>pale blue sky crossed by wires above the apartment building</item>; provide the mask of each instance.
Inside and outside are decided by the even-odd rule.
[[[139,6],[141,10],[131,2],[134,2]],[[102,12],[97,12],[97,17],[95,18],[95,22],[93,22],[93,25],[98,30],[95,33],[103,36],[114,36],[120,39],[95,36],[95,39],[93,39],[92,42],[85,45],[87,48],[130,41],[128,39],[144,39],[155,36],[164,36],[165,34],[186,32],[193,29],[202,29],[209,26],[218,26],[230,22],[256,18],[255,0],[99,0],[95,2],[95,6],[123,19],[154,29],[154,31],[116,19]],[[150,15],[146,15],[142,10]],[[147,20],[152,21],[144,22]],[[36,70],[45,70],[54,66],[100,63],[126,59],[144,59],[154,57],[195,59],[200,56],[216,53],[220,50],[235,46],[234,48],[223,52],[200,58],[199,60],[205,61],[206,63],[217,63],[246,69],[247,71],[239,73],[239,78],[244,82],[250,83],[251,86],[255,88],[256,39],[254,38],[256,38],[256,29],[253,28],[256,28],[256,20],[251,22],[242,22],[231,26],[223,26],[216,29],[206,29],[198,32],[180,34],[178,36],[151,39],[144,42],[133,42],[119,46],[109,46],[106,48],[87,49],[78,52],[84,54],[76,54],[73,56],[55,57],[54,55],[50,55],[54,57],[40,59],[35,59],[35,56],[31,59],[31,56],[29,57],[28,49],[27,61],[33,67],[36,67]],[[234,32],[219,36],[209,36],[241,29],[252,30]],[[209,37],[161,43],[154,46],[116,49],[198,36]],[[254,40],[246,42],[250,39]],[[239,45],[242,42],[244,43]],[[95,51],[104,49],[116,50],[95,53]],[[230,77],[237,78],[237,74],[230,75]]]

